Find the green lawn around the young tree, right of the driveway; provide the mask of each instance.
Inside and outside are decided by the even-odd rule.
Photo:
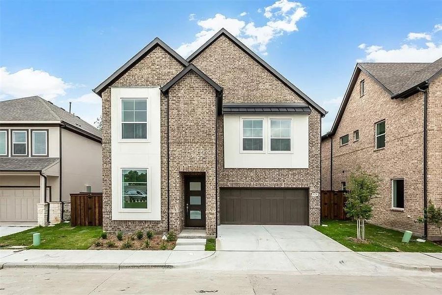
[[[416,242],[413,236],[409,243],[402,243],[403,233],[365,223],[365,239],[368,243],[360,243],[356,238],[355,221],[328,220],[314,228],[353,251],[364,252],[442,252],[442,246],[433,242]]]

